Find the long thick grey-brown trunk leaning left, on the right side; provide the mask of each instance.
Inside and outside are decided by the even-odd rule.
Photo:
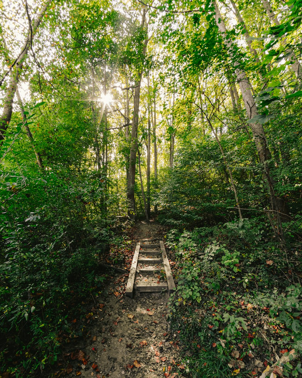
[[[233,58],[234,64],[236,64],[236,66],[239,67],[240,62],[238,61],[238,58],[235,57],[233,54],[233,51],[234,51],[233,42],[230,39],[228,39],[226,36],[227,29],[225,27],[225,23],[223,22],[220,11],[217,7],[217,3],[215,2],[214,5],[215,5],[215,10],[216,10],[216,24],[219,28],[220,33],[225,39],[225,43],[227,45],[230,57]],[[248,80],[246,73],[240,68],[236,68],[235,73],[236,73],[237,81],[238,81],[238,84],[242,93],[242,98],[245,104],[245,109],[247,111],[248,118],[252,119],[259,113],[257,111],[257,105],[254,101],[253,94],[251,91],[250,81]],[[286,212],[285,210],[286,207],[285,207],[284,201],[278,198],[274,192],[274,181],[273,181],[273,178],[271,177],[270,167],[268,165],[268,160],[270,160],[271,158],[271,153],[267,146],[265,132],[264,132],[262,124],[259,124],[258,122],[250,123],[250,126],[253,133],[256,149],[259,155],[259,160],[260,160],[260,163],[262,163],[263,165],[264,176],[266,178],[266,181],[270,190],[271,210],[273,212],[273,217],[276,223],[276,227],[273,227],[273,230],[276,236],[282,237],[283,232],[282,232],[282,222],[280,218],[280,213],[284,214]]]

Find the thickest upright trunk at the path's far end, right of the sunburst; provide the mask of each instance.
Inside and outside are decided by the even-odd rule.
[[[143,7],[143,15],[141,26],[145,25],[146,8]],[[146,37],[143,48],[143,56],[146,54],[146,47],[148,43],[148,37]],[[131,148],[129,158],[129,175],[127,183],[127,197],[129,201],[128,215],[130,218],[135,219],[135,197],[134,197],[134,185],[135,185],[135,172],[136,172],[136,153],[137,153],[137,129],[139,125],[139,101],[140,101],[140,83],[142,81],[143,71],[140,71],[138,79],[135,82],[134,89],[134,110],[133,121],[131,129]]]

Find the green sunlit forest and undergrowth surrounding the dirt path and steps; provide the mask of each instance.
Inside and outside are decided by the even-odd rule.
[[[0,377],[75,376],[72,319],[141,221],[166,232],[182,345],[154,377],[302,377],[302,0],[0,0],[0,19]]]

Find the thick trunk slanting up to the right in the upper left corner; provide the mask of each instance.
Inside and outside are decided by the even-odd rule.
[[[15,61],[15,68],[12,70],[11,78],[9,80],[8,88],[6,90],[5,99],[3,101],[3,113],[0,118],[0,144],[2,143],[5,132],[8,128],[9,122],[11,121],[12,116],[12,107],[14,104],[14,96],[17,90],[17,85],[19,82],[20,71],[22,70],[22,64],[27,56],[28,49],[32,44],[33,37],[37,32],[37,29],[42,21],[43,15],[49,5],[51,0],[47,0],[44,6],[41,9],[41,12],[37,15],[34,20],[33,25],[29,27],[28,37],[21,48],[20,54]]]

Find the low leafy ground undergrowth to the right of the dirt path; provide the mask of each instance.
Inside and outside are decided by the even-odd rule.
[[[267,230],[259,218],[167,234],[178,261],[169,319],[189,377],[259,376],[276,355],[288,357],[279,373],[302,375],[301,251]]]

